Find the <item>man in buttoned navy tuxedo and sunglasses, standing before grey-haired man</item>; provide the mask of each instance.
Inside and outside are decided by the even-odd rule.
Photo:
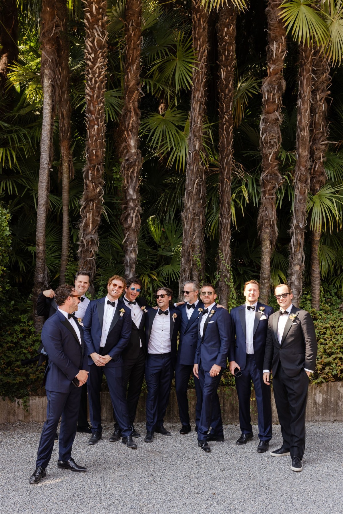
[[[226,368],[231,341],[231,320],[226,309],[216,307],[215,289],[204,284],[200,291],[204,309],[200,309],[198,341],[193,373],[200,380],[202,392],[200,423],[197,430],[198,446],[210,452],[208,438],[224,440],[222,413],[217,394],[219,382]],[[211,432],[208,430],[211,426]]]

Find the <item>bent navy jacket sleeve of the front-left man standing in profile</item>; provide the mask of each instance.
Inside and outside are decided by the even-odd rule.
[[[59,322],[57,322],[59,323]],[[79,373],[79,368],[70,361],[62,348],[61,332],[57,323],[44,323],[42,328],[42,343],[51,360],[60,368],[65,376],[71,381]],[[74,337],[74,336],[71,336]]]

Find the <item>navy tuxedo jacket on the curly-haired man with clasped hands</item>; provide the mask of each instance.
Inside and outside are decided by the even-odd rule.
[[[100,351],[105,300],[106,297],[89,302],[83,318],[84,341],[88,356]],[[103,355],[111,357],[110,362],[106,364],[111,368],[122,365],[121,352],[129,344],[131,336],[131,309],[125,306],[122,300],[117,301],[117,308],[102,352]],[[120,309],[124,309],[124,312],[121,313]],[[93,364],[92,357],[88,357],[88,364]]]

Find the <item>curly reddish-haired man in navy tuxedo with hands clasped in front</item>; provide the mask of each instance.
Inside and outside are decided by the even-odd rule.
[[[101,439],[100,390],[104,373],[121,430],[122,443],[136,449],[137,445],[132,440],[128,403],[123,386],[121,357],[131,336],[131,310],[119,300],[125,287],[126,282],[122,277],[110,277],[107,283],[107,296],[89,303],[83,318],[89,364],[89,417],[92,424],[92,436],[88,444],[95,445]]]

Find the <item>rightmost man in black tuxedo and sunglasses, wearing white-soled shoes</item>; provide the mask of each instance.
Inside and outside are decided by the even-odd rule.
[[[275,288],[275,296],[280,310],[268,320],[263,380],[270,386],[270,373],[273,373],[283,443],[270,454],[275,457],[291,455],[291,469],[299,472],[302,471],[305,449],[309,375],[316,368],[317,339],[310,314],[292,304],[291,288],[280,284]]]

